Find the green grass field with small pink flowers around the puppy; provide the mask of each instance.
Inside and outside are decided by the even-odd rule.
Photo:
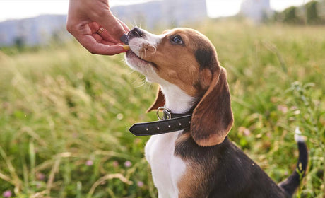
[[[300,127],[310,158],[295,196],[325,197],[325,27],[194,28],[228,70],[230,139],[280,182],[295,169]],[[123,55],[93,55],[76,42],[1,50],[0,196],[157,197],[143,158],[148,137],[128,132],[156,119],[145,114],[156,88]]]

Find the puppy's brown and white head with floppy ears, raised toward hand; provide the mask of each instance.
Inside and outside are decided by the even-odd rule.
[[[196,30],[176,28],[153,35],[140,28],[129,32],[129,66],[160,86],[172,83],[197,98],[191,136],[200,146],[220,144],[232,127],[227,74],[208,38]],[[166,83],[167,82],[167,83]],[[149,110],[163,106],[161,91]]]

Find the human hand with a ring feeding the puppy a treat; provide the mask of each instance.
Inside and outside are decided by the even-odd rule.
[[[113,16],[108,0],[70,0],[66,29],[93,54],[126,52],[119,38],[129,28]]]

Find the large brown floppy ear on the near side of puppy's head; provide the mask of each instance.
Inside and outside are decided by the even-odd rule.
[[[219,71],[214,72],[208,91],[194,109],[191,119],[191,136],[200,146],[222,143],[232,127],[227,74],[221,67]]]

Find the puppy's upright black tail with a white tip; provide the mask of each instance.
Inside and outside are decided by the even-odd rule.
[[[286,180],[280,182],[279,184],[279,186],[290,196],[293,196],[293,193],[295,193],[295,190],[297,187],[299,187],[302,177],[305,176],[308,163],[307,146],[305,144],[304,137],[301,135],[299,127],[295,129],[295,141],[298,144],[299,150],[297,168],[295,171],[293,171],[293,174],[291,174]]]

